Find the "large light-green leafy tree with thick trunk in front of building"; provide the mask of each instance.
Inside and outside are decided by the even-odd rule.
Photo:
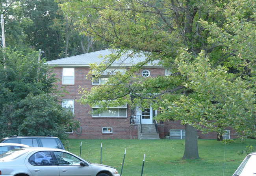
[[[106,59],[107,64],[92,65],[93,70],[100,73],[127,51],[143,52],[148,58],[108,83],[85,90],[81,102],[103,108],[124,102],[160,108],[159,120],[181,120],[185,125],[184,159],[199,157],[197,128],[222,134],[229,126],[238,134],[254,136],[255,5],[250,0],[63,4],[63,11],[84,29],[83,34],[104,39],[120,51]],[[140,82],[136,72],[154,60],[170,75]]]

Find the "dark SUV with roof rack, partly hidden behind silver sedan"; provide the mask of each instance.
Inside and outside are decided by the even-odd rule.
[[[11,136],[2,138],[1,143],[21,143],[29,145],[30,147],[49,147],[55,149],[65,150],[59,138],[46,135],[46,136]]]

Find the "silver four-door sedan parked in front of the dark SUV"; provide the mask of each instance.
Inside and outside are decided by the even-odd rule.
[[[117,169],[89,163],[68,151],[26,147],[0,154],[1,176],[120,176]]]

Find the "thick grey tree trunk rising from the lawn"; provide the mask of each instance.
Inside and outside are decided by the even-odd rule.
[[[199,158],[197,147],[197,129],[189,124],[185,124],[186,140],[185,151],[182,159]]]

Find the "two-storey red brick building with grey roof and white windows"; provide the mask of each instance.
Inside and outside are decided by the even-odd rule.
[[[108,79],[108,70],[103,73],[100,78],[92,81],[87,78],[90,71],[89,64],[100,64],[105,56],[111,54],[110,50],[96,51],[93,53],[81,54],[57,60],[48,61],[47,64],[54,66],[54,73],[59,82],[58,89],[65,89],[68,93],[62,99],[62,106],[69,108],[74,112],[75,119],[79,120],[80,128],[76,130],[70,129],[69,138],[79,139],[143,139],[143,138],[185,138],[185,127],[178,121],[167,121],[157,126],[153,123],[153,117],[158,111],[152,108],[144,109],[129,109],[129,105],[120,107],[111,107],[109,112],[100,114],[91,114],[97,107],[83,105],[76,100],[80,99],[80,87],[87,87],[89,90],[93,86],[104,83]],[[145,59],[144,55],[124,55],[121,57],[122,69],[117,69],[122,72],[128,67]],[[112,64],[112,68],[117,68],[121,61],[116,61]],[[111,71],[111,68],[109,68]],[[144,77],[158,75],[167,75],[163,67],[152,63],[146,65],[140,73]],[[135,112],[135,113],[134,113]],[[157,129],[157,130],[156,130]],[[228,130],[230,134],[234,131]],[[199,138],[216,139],[215,132],[202,134],[198,131]],[[230,135],[224,136],[230,138]],[[231,137],[232,138],[232,137]]]

